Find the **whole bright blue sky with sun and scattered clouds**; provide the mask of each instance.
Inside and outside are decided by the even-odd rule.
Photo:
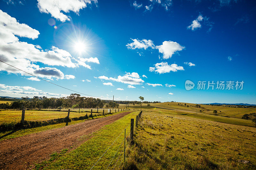
[[[0,59],[102,99],[256,104],[256,2],[88,2],[1,1]],[[4,63],[0,75],[0,96],[73,93]],[[217,81],[234,89],[216,89]]]

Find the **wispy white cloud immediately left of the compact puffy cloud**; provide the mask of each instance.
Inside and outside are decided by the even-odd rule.
[[[149,40],[132,39],[132,41],[133,41],[132,43],[126,45],[128,49],[134,50],[136,48],[139,48],[139,49],[144,48],[146,50],[148,47],[155,48],[153,41],[150,39]]]

